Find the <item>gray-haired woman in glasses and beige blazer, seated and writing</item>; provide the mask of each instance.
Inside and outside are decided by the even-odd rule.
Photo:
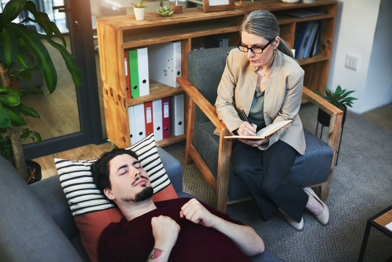
[[[215,108],[233,134],[254,136],[279,121],[293,122],[264,140],[233,143],[232,170],[250,189],[260,218],[267,221],[279,209],[295,229],[303,227],[308,209],[321,224],[329,211],[309,187],[289,179],[297,154],[305,154],[305,136],[298,115],[304,71],[288,44],[279,37],[276,17],[269,11],[250,13],[240,26],[241,42],[232,49],[218,87]],[[250,123],[240,118],[241,110]]]

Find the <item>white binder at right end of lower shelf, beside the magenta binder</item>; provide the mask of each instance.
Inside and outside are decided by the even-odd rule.
[[[170,97],[170,129],[175,136],[184,134],[184,94]]]

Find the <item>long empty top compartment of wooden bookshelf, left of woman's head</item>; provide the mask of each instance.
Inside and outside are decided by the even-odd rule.
[[[146,46],[151,44],[170,42],[175,40],[181,40],[185,38],[201,37],[205,35],[216,35],[221,33],[238,32],[240,26],[234,26],[229,23],[212,23],[212,24],[198,24],[189,25],[184,24],[181,27],[173,28],[172,26],[167,29],[160,27],[159,31],[152,30],[147,33],[143,33],[146,30],[143,29],[139,32],[136,30],[124,31],[123,48],[134,48],[138,46]]]

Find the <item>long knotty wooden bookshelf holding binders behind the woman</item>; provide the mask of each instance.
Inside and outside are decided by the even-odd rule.
[[[250,7],[236,7],[235,10],[203,13],[202,7],[187,8],[182,14],[161,17],[152,10],[145,13],[144,20],[135,20],[134,15],[105,17],[97,19],[98,45],[102,76],[103,101],[108,138],[118,147],[131,145],[129,137],[128,106],[183,93],[183,90],[150,80],[150,94],[127,99],[125,90],[125,67],[123,51],[141,48],[151,44],[180,40],[181,70],[187,75],[186,54],[191,51],[192,42],[203,42],[208,35],[224,34],[229,45],[236,46],[239,40],[239,26],[245,16],[259,9],[271,11],[281,26],[281,38],[294,45],[296,26],[300,22],[323,20],[318,55],[299,59],[305,70],[304,85],[312,91],[322,91],[327,84],[328,68],[332,51],[337,1],[316,0],[311,4],[286,4],[280,0],[254,2]],[[310,10],[323,13],[319,16],[297,18],[287,15],[289,11]],[[305,101],[303,101],[305,102]],[[187,111],[187,99],[185,99]],[[185,112],[185,117],[187,116]],[[185,118],[185,126],[187,119]],[[186,132],[186,131],[185,131]],[[163,147],[186,139],[185,135],[171,136],[158,141]]]

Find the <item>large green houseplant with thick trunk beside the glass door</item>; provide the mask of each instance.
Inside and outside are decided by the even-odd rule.
[[[27,17],[20,23],[12,22],[22,10],[28,10],[34,19]],[[37,33],[27,29],[25,22],[38,24],[45,34]],[[54,42],[51,37],[56,35],[62,44]],[[71,73],[76,88],[81,86],[81,71],[76,64],[74,57],[67,51],[66,42],[60,30],[54,22],[51,22],[46,13],[39,12],[33,2],[28,0],[11,0],[0,13],[0,145],[2,155],[10,157],[13,154],[16,170],[22,175],[24,180],[28,179],[25,165],[22,139],[36,137],[38,143],[41,137],[38,133],[28,128],[21,129],[26,125],[23,115],[39,118],[40,115],[33,108],[28,108],[20,102],[20,98],[27,93],[38,93],[44,95],[42,90],[31,87],[18,90],[18,77],[25,81],[31,78],[31,71],[39,70],[44,77],[44,81],[49,93],[53,93],[57,84],[57,73],[47,49],[40,39],[45,39],[51,46],[60,51],[68,71]],[[27,59],[36,66],[29,66]],[[17,64],[20,69],[10,72]],[[5,136],[8,131],[9,136]],[[22,133],[21,133],[22,132]]]

